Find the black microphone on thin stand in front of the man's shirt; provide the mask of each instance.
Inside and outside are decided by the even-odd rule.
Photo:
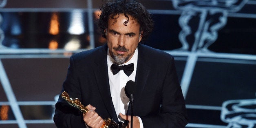
[[[124,87],[124,92],[126,96],[130,99],[130,104],[131,104],[131,128],[132,128],[132,123],[133,123],[133,100],[134,100],[134,92],[135,92],[135,82],[132,80],[129,80],[126,83],[126,86]]]

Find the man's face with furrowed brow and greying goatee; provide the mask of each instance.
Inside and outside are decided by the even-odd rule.
[[[130,15],[128,16],[127,26],[124,22],[128,18],[124,14],[119,14],[114,16],[114,18],[118,17],[116,21],[108,20],[108,28],[105,30],[109,53],[117,64],[128,62],[141,41],[138,22]]]

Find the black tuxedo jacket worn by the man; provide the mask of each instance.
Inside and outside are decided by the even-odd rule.
[[[80,99],[84,106],[95,106],[103,119],[117,122],[106,55],[107,45],[72,55],[62,91]],[[135,84],[133,115],[141,117],[144,128],[185,127],[185,102],[170,54],[139,44]],[[127,115],[129,110],[130,106]],[[61,97],[55,105],[54,121],[59,128],[85,128],[82,113]]]

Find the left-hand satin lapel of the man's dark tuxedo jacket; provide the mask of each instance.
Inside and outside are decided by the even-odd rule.
[[[99,93],[103,99],[105,107],[109,115],[114,121],[118,121],[117,115],[115,113],[115,107],[112,102],[109,80],[108,80],[108,69],[107,69],[107,45],[105,44],[100,48],[97,57],[95,57],[94,65],[94,75],[97,81],[97,86],[99,88]]]

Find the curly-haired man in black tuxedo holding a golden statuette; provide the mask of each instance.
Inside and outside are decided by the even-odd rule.
[[[139,44],[153,28],[148,11],[135,0],[109,0],[101,11],[97,22],[107,45],[72,55],[62,88],[89,111],[81,113],[60,97],[56,126],[100,128],[103,119],[110,118],[128,120],[130,128],[124,86],[132,80],[133,128],[184,128],[188,117],[172,55]],[[123,67],[116,72],[118,66]]]

